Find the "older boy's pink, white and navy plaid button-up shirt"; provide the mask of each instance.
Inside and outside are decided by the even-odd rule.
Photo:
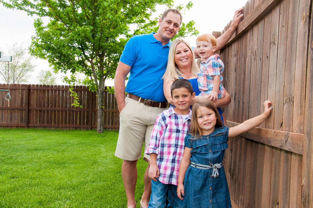
[[[191,110],[189,115],[182,116],[176,113],[174,108],[169,107],[156,118],[146,154],[157,154],[159,181],[163,184],[177,185],[179,164],[185,148],[184,139],[190,126]]]

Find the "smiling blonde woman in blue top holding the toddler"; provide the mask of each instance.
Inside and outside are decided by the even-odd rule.
[[[192,47],[183,39],[174,40],[168,53],[167,68],[162,77],[164,80],[164,96],[171,105],[174,104],[171,99],[171,85],[176,79],[187,79],[190,81],[193,91],[196,93],[193,102],[208,99],[208,96],[198,96],[200,94],[198,88],[198,72],[199,67],[196,63]],[[231,97],[226,90],[225,94],[225,97],[214,101],[214,104],[218,107],[218,112],[221,115],[222,121],[225,121],[224,124],[226,125],[226,119],[223,119],[221,108],[228,106],[231,102]]]

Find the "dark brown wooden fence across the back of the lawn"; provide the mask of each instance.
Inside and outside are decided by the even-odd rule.
[[[8,85],[0,84],[0,89]],[[0,127],[36,127],[59,129],[95,129],[97,127],[97,96],[86,86],[74,86],[82,106],[72,106],[69,86],[10,85],[0,91]],[[114,94],[104,95],[103,128],[119,129],[119,112]]]

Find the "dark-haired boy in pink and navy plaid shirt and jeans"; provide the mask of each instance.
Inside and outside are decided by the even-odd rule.
[[[182,207],[182,200],[177,197],[176,191],[178,170],[185,148],[184,139],[190,126],[190,105],[194,97],[188,80],[175,80],[171,86],[175,107],[169,107],[156,118],[146,150],[146,154],[150,154],[149,178],[152,179],[148,208],[165,207],[167,195],[167,207]]]

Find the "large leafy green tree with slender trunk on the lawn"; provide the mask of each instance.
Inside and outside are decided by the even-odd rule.
[[[135,35],[157,31],[151,18],[157,4],[173,7],[172,0],[0,0],[7,8],[37,15],[36,35],[30,52],[48,60],[54,71],[80,72],[89,77],[85,84],[97,92],[97,132],[103,132],[104,86],[114,78],[127,40]],[[188,3],[186,9],[192,7]],[[182,5],[178,7],[183,10]],[[44,23],[43,18],[49,22]],[[131,27],[136,28],[134,31]],[[197,34],[194,22],[183,23],[175,38]]]

